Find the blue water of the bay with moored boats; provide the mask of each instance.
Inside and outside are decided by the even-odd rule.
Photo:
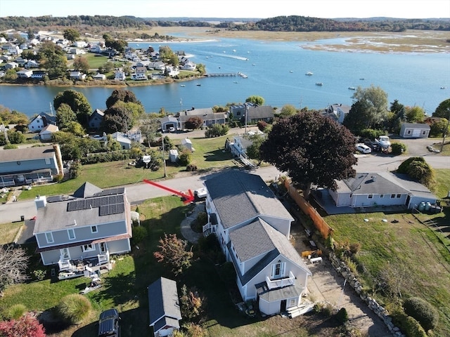
[[[345,43],[334,39],[333,43]],[[330,41],[330,40],[328,40]],[[314,44],[321,44],[316,41]],[[356,53],[311,51],[302,48],[311,42],[217,39],[202,42],[162,44],[184,51],[195,63],[203,63],[208,73],[238,73],[243,77],[205,77],[180,83],[128,87],[141,100],[146,112],[179,112],[242,103],[250,95],[260,95],[266,105],[285,104],[322,109],[329,104],[352,105],[349,87],[379,86],[388,102],[418,105],[432,114],[450,98],[450,55],[448,53]],[[160,44],[131,43],[133,48],[158,50]],[[307,72],[312,72],[307,76]],[[322,83],[317,86],[316,83]],[[198,85],[199,84],[199,85]],[[0,105],[32,116],[49,112],[54,96],[68,88],[46,86],[0,86]],[[115,88],[73,87],[81,91],[94,109],[105,109],[105,101]]]

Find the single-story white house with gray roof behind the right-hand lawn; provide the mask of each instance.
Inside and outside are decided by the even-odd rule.
[[[420,202],[435,204],[437,197],[424,185],[404,174],[391,172],[356,173],[339,180],[338,189],[328,190],[336,206],[405,206],[412,209]]]

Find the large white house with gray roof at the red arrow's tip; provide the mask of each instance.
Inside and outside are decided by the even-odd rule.
[[[228,171],[205,181],[209,222],[226,260],[233,262],[243,300],[275,315],[302,305],[307,265],[289,242],[293,217],[261,177]]]

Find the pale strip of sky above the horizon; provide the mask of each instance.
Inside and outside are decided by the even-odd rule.
[[[0,0],[0,17],[133,15],[140,18],[450,18],[450,0]]]

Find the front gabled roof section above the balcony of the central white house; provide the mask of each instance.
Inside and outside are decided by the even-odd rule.
[[[261,272],[264,267],[269,265],[269,263],[280,255],[301,267],[308,272],[309,275],[312,275],[307,265],[298,255],[294,246],[289,242],[288,238],[262,219],[258,219],[255,222],[240,227],[237,230],[233,230],[233,232],[230,233],[228,247],[233,263],[238,265],[234,253],[231,251],[231,242],[241,261],[260,256],[264,253],[266,254],[244,275],[240,274],[238,268],[236,268],[241,284],[250,282],[250,280]],[[265,252],[264,249],[266,250]],[[241,256],[244,256],[245,259]]]

